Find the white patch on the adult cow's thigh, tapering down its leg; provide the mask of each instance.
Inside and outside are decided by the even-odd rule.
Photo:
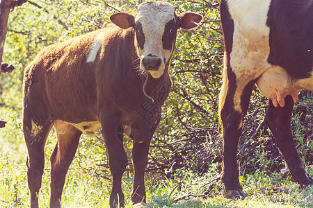
[[[269,54],[269,28],[266,26],[271,0],[229,0],[230,15],[234,20],[234,35],[230,65],[236,74],[237,89],[234,108],[241,112],[243,88],[271,67]]]

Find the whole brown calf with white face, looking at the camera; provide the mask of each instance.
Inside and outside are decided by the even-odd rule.
[[[31,207],[38,207],[45,141],[53,126],[57,144],[50,157],[50,207],[61,207],[65,175],[81,133],[100,127],[113,177],[110,207],[125,204],[123,133],[134,139],[131,200],[145,202],[147,154],[172,84],[168,67],[177,30],[195,28],[202,17],[177,15],[170,3],[147,1],[135,17],[120,12],[110,19],[111,26],[48,46],[25,69],[22,128]]]

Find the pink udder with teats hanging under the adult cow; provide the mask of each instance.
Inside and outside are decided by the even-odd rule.
[[[313,90],[313,72],[310,78],[295,80],[279,66],[271,66],[257,80],[259,91],[270,98],[273,105],[284,107],[284,98],[291,95],[298,101],[298,93],[303,89]]]

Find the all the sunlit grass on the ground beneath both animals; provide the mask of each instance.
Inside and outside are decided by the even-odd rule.
[[[2,138],[3,139],[3,138]],[[18,154],[18,153],[17,153]],[[29,190],[26,182],[24,159],[18,159],[14,152],[4,153],[0,159],[0,207],[29,207]],[[22,154],[21,154],[22,155]],[[17,162],[19,161],[19,162]],[[309,171],[313,175],[313,171]],[[248,197],[245,200],[229,200],[220,190],[223,186],[217,182],[209,192],[209,198],[200,197],[209,189],[211,181],[218,175],[211,171],[195,176],[188,171],[176,175],[175,179],[147,180],[147,202],[150,207],[313,207],[313,187],[299,189],[298,184],[278,174],[264,175],[256,173],[241,177],[241,184]],[[131,178],[122,180],[127,207],[131,207]],[[155,186],[155,187],[154,187]],[[280,188],[278,188],[280,187]],[[63,191],[63,207],[109,207],[111,182],[86,174],[85,169],[73,162],[69,170]],[[175,200],[188,196],[184,200]],[[198,195],[198,197],[197,197]],[[49,168],[46,166],[40,189],[40,207],[48,207]]]

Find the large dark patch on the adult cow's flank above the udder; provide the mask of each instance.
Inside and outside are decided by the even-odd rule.
[[[313,67],[313,3],[311,0],[271,1],[268,62],[294,78],[309,78]]]

